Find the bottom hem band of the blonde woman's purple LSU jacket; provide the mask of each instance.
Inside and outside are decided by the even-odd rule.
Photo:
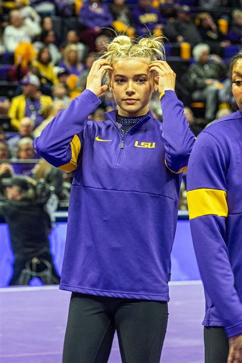
[[[136,293],[121,293],[117,291],[108,291],[100,289],[92,289],[80,286],[71,286],[66,284],[60,284],[60,290],[71,291],[74,293],[89,294],[95,296],[107,296],[111,298],[123,298],[123,299],[141,299],[141,300],[153,300],[153,301],[170,301],[168,295],[159,294],[136,294]]]

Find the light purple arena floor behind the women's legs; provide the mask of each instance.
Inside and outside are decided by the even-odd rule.
[[[171,283],[164,363],[203,363],[203,288]],[[0,289],[0,362],[61,363],[70,294],[56,286]],[[120,363],[115,336],[109,363]]]

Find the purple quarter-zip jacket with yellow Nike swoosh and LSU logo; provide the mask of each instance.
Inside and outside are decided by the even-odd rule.
[[[167,301],[181,172],[194,135],[173,91],[161,98],[163,123],[149,113],[123,142],[116,111],[87,121],[99,104],[85,90],[34,141],[51,164],[75,170],[60,288]]]

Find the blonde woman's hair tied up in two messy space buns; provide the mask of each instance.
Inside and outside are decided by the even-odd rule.
[[[165,60],[165,46],[163,38],[148,35],[145,38],[138,38],[132,41],[126,35],[116,36],[109,44],[99,59],[107,59],[110,65],[125,58],[146,58],[147,62],[156,60]],[[106,72],[106,78],[109,79],[109,72]]]

